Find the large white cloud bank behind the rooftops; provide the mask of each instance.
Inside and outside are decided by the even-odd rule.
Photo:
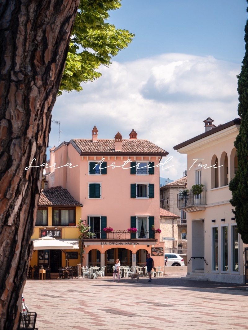
[[[178,179],[186,169],[186,156],[173,146],[204,132],[208,116],[214,124],[237,117],[237,78],[240,66],[215,58],[163,54],[133,62],[113,61],[101,68],[102,77],[83,85],[80,93],[63,93],[55,104],[53,119],[60,120],[60,142],[114,138],[120,131],[129,138],[148,139],[169,152],[173,160],[161,176]],[[49,145],[58,145],[58,126],[52,124]]]

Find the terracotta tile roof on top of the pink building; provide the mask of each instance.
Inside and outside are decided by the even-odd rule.
[[[71,140],[80,149],[81,152],[85,153],[114,153],[114,152],[131,152],[131,153],[157,153],[158,155],[168,154],[164,149],[159,148],[148,140],[131,140],[122,139],[122,150],[115,151],[114,139],[98,139],[93,142],[91,139],[73,139]]]

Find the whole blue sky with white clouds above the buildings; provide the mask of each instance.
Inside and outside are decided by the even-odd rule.
[[[102,77],[80,93],[57,98],[60,142],[114,138],[148,139],[173,156],[160,176],[176,180],[186,156],[173,146],[204,132],[208,116],[219,125],[237,117],[237,78],[244,56],[245,0],[122,0],[109,22],[135,34]],[[52,124],[49,146],[58,145]]]

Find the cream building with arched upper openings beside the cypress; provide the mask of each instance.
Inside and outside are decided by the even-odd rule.
[[[244,283],[244,244],[229,200],[229,180],[237,169],[234,141],[240,118],[223,125],[204,120],[205,133],[174,147],[187,154],[187,188],[178,207],[187,213],[187,278]],[[199,195],[190,188],[204,184]]]

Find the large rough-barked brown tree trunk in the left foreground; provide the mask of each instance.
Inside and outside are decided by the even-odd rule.
[[[0,329],[16,329],[51,111],[79,0],[0,3]]]

